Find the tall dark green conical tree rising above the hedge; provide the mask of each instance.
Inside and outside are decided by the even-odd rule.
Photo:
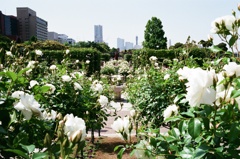
[[[167,48],[167,38],[164,37],[163,25],[160,19],[152,17],[148,20],[146,29],[144,31],[145,41],[143,46],[149,49],[166,49]]]

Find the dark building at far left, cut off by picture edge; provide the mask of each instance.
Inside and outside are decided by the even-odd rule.
[[[4,15],[0,11],[0,34],[9,37],[12,40],[18,38],[18,20],[12,15]]]

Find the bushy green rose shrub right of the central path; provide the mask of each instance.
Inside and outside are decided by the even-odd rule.
[[[127,93],[131,103],[136,106],[139,112],[138,121],[143,125],[151,123],[151,127],[157,128],[162,125],[163,110],[171,104],[176,95],[183,93],[184,85],[178,82],[176,70],[180,67],[176,62],[172,70],[159,71],[154,68],[154,64],[145,67],[146,71],[136,71],[138,78],[128,80]],[[164,68],[163,68],[164,69]],[[164,76],[170,75],[170,79],[165,80]],[[141,92],[141,93],[140,93]],[[183,105],[182,110],[185,109]],[[141,118],[144,116],[144,118]]]

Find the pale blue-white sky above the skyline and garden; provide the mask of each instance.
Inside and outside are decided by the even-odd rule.
[[[188,36],[207,40],[211,22],[239,12],[237,0],[0,0],[3,14],[16,16],[17,7],[28,7],[48,21],[48,31],[76,41],[93,41],[94,25],[103,26],[103,40],[117,47],[117,38],[135,44],[144,40],[147,21],[155,16],[171,43],[185,43]],[[214,43],[220,39],[214,35]]]

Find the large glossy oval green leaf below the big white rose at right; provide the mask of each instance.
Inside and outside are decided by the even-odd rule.
[[[192,138],[196,138],[200,135],[202,131],[202,123],[198,118],[193,118],[188,123],[188,133]]]

